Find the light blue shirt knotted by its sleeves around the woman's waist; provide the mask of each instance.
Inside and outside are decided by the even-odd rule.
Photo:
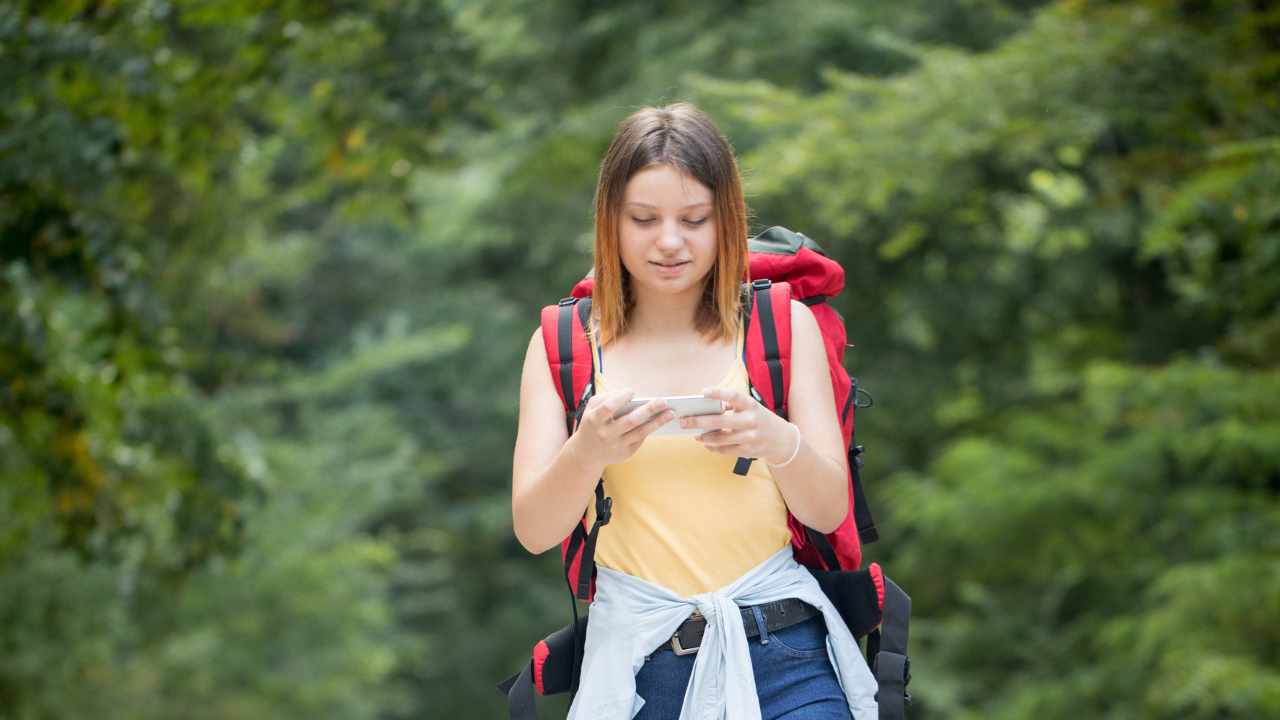
[[[680,597],[634,575],[596,566],[582,675],[568,720],[631,720],[644,706],[636,673],[696,610],[707,632],[694,659],[680,720],[759,720],[751,656],[740,606],[788,597],[822,610],[827,657],[856,720],[876,720],[876,678],[840,612],[808,570],[783,547],[717,591]]]

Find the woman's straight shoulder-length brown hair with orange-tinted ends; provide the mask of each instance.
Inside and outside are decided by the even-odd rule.
[[[618,222],[627,182],[650,165],[671,165],[712,191],[717,254],[703,287],[695,329],[728,340],[741,323],[741,283],[749,281],[746,201],[733,149],[705,113],[689,102],[645,106],[621,123],[600,163],[595,186],[595,261],[591,291],[600,342],[622,336],[635,296],[622,266]]]

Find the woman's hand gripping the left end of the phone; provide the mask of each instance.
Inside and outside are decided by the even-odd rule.
[[[676,413],[660,397],[614,419],[635,391],[620,389],[593,395],[582,410],[582,420],[570,438],[579,450],[599,465],[622,462],[635,455],[644,438],[671,421]]]

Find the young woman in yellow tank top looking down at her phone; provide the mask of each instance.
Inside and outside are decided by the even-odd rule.
[[[704,113],[677,102],[618,126],[595,196],[595,395],[570,436],[535,331],[512,473],[516,537],[534,553],[584,507],[593,519],[598,478],[613,497],[571,719],[877,716],[876,680],[786,521],[790,509],[831,532],[847,507],[822,337],[792,301],[790,421],[749,395],[746,238],[736,160]],[[632,397],[676,395],[726,411],[682,419],[696,437],[650,437],[673,419],[662,400],[614,418]],[[737,457],[762,461],[744,477]]]

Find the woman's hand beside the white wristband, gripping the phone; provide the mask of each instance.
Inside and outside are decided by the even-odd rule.
[[[791,455],[795,445],[791,423],[754,397],[728,388],[708,388],[703,396],[722,401],[726,411],[681,418],[680,427],[707,429],[698,436],[707,450],[735,457],[763,457],[765,462],[782,462]]]

